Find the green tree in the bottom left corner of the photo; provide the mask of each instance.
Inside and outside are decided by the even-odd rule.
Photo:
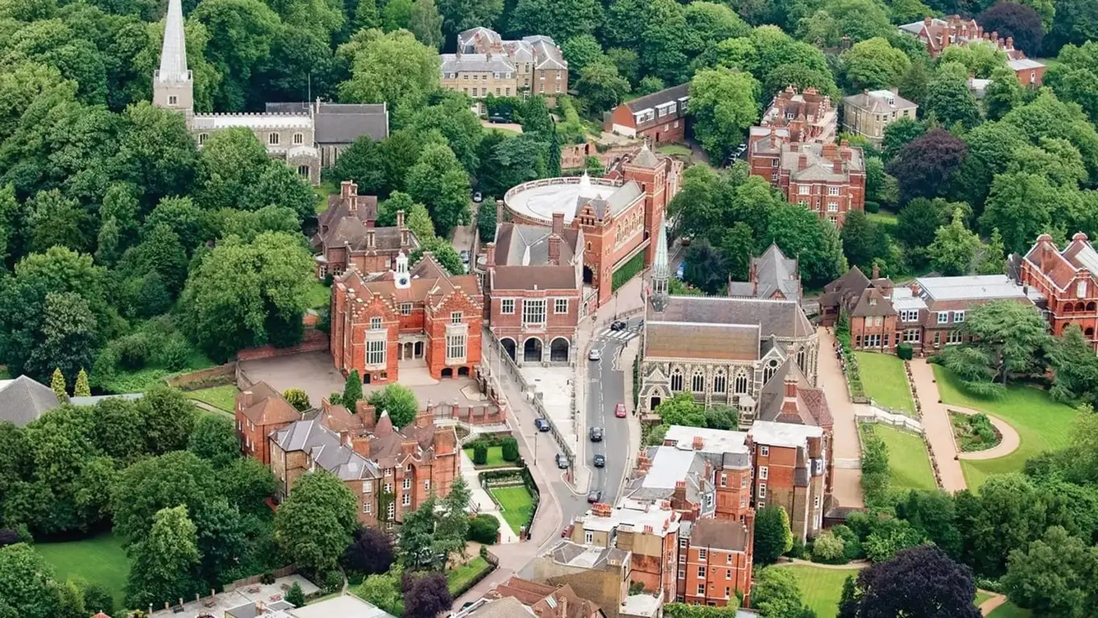
[[[54,618],[59,598],[53,567],[26,543],[0,548],[0,609],[18,609],[9,616]]]

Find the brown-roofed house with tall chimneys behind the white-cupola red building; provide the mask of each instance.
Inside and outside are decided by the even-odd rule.
[[[384,273],[394,267],[396,255],[407,255],[419,242],[396,212],[396,227],[379,228],[377,196],[358,195],[358,185],[344,180],[339,195],[328,196],[328,208],[316,216],[312,245],[316,252],[316,276],[340,275],[354,264],[359,273]]]

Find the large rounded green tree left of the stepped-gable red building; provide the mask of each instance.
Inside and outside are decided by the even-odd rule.
[[[193,339],[222,360],[242,347],[279,343],[288,329],[300,340],[312,262],[301,242],[283,232],[250,243],[235,236],[220,242],[192,269],[181,297]]]

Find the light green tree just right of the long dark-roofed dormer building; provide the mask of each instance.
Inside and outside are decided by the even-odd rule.
[[[694,134],[710,157],[724,159],[759,118],[759,82],[726,68],[699,70],[690,86]]]

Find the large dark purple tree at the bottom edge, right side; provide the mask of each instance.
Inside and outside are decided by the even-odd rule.
[[[976,618],[975,594],[971,569],[934,545],[920,545],[860,572],[853,594],[840,602],[839,617],[935,616],[948,607],[950,616]]]

